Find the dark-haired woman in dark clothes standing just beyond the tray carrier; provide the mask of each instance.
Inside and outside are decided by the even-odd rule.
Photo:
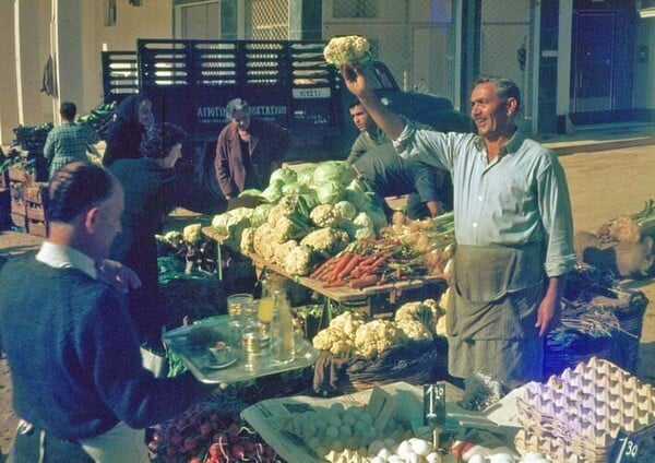
[[[175,165],[181,157],[184,131],[172,123],[147,129],[140,158],[116,159],[109,170],[120,180],[126,206],[122,232],[111,246],[111,259],[136,272],[142,286],[128,294],[128,307],[142,342],[160,345],[166,313],[159,298],[157,244],[166,216],[179,201]]]

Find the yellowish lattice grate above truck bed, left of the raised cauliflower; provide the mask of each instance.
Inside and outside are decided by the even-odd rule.
[[[249,0],[245,13],[246,39],[283,40],[289,35],[288,0]]]

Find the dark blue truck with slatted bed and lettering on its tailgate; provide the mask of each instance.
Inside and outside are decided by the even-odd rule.
[[[146,95],[156,120],[176,123],[189,134],[182,166],[188,183],[211,201],[219,200],[215,143],[227,122],[225,106],[233,98],[246,99],[253,117],[289,131],[293,147],[285,161],[348,155],[358,134],[348,111],[355,99],[336,68],[325,62],[325,45],[138,39],[135,51],[103,51],[104,103],[119,103],[133,93]],[[371,75],[376,93],[395,112],[437,130],[472,130],[469,118],[448,98],[403,91],[383,62],[373,62]]]

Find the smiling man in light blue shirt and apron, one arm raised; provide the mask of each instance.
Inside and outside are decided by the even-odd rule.
[[[390,111],[360,70],[341,71],[401,156],[452,175],[457,250],[446,310],[450,373],[480,372],[510,385],[541,380],[544,336],[575,264],[573,221],[556,154],[514,122],[519,87],[480,78],[471,93],[478,133],[442,133]]]

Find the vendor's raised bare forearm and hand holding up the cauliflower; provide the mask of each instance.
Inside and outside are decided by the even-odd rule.
[[[397,139],[405,128],[405,120],[382,104],[369,86],[362,70],[342,66],[341,73],[350,93],[359,99],[378,127],[391,140]]]

